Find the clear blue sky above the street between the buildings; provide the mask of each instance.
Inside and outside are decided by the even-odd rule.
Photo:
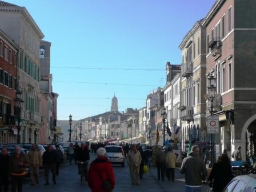
[[[179,43],[215,0],[7,2],[26,7],[51,42],[58,119],[78,120],[110,111],[114,93],[119,111],[145,106],[166,83],[166,62],[181,63]]]

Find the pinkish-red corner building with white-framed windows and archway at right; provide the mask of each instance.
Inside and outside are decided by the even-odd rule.
[[[206,15],[207,77],[215,78],[214,116],[219,134],[214,142],[231,153],[242,146],[242,159],[256,152],[256,13],[255,1],[216,1]],[[221,99],[218,98],[221,95]],[[221,101],[219,101],[221,100]],[[218,106],[220,105],[220,106]]]

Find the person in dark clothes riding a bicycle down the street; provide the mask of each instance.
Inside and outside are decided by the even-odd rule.
[[[83,170],[85,171],[85,178],[87,181],[87,173],[88,173],[88,163],[90,161],[90,153],[89,153],[89,146],[85,145],[85,143],[81,143],[81,149],[78,151],[78,161],[83,162]],[[79,172],[79,165],[78,165],[78,174]]]

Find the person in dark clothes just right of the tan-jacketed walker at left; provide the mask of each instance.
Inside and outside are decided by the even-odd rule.
[[[53,183],[56,184],[56,162],[57,154],[53,147],[47,145],[47,150],[43,153],[43,166],[45,167],[45,185],[49,185],[49,171],[53,175]]]

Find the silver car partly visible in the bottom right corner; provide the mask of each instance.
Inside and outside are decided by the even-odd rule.
[[[223,192],[255,192],[256,175],[239,175],[233,178],[225,187]]]

